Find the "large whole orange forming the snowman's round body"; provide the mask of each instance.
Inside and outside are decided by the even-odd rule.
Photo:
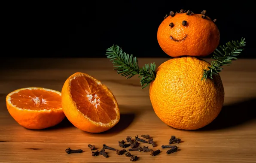
[[[196,57],[167,60],[156,70],[149,97],[155,114],[167,125],[196,130],[210,124],[222,109],[224,88],[218,75],[201,80],[210,63]]]

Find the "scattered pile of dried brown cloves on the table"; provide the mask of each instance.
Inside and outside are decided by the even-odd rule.
[[[144,138],[144,139],[141,139],[141,138]],[[132,139],[131,136],[126,136],[126,138],[125,138],[126,141],[121,140],[118,142],[118,146],[123,148],[120,150],[116,149],[116,148],[112,148],[105,144],[102,145],[101,150],[98,150],[97,148],[95,148],[94,145],[91,145],[91,144],[89,144],[88,147],[91,149],[91,156],[94,156],[94,157],[96,157],[98,155],[102,155],[104,157],[109,157],[105,150],[112,150],[112,151],[116,151],[117,155],[125,155],[126,157],[129,157],[131,161],[136,161],[138,159],[137,155],[132,155],[130,153],[131,151],[149,152],[149,154],[151,156],[156,156],[156,155],[160,154],[160,152],[161,152],[160,149],[153,150],[153,149],[150,149],[149,146],[147,146],[147,145],[143,145],[142,147],[140,147],[140,143],[151,144],[152,147],[156,147],[157,144],[153,141],[153,138],[151,138],[149,135],[141,135],[141,138],[139,138],[138,135],[134,136],[134,139]],[[180,138],[177,138],[176,136],[171,136],[171,139],[169,139],[169,145],[162,145],[162,149],[170,148],[168,151],[166,151],[166,154],[171,154],[171,153],[177,152],[178,151],[177,145],[172,145],[172,144],[174,144],[174,143],[179,144],[180,142],[181,142]],[[128,150],[125,148],[128,148]],[[76,149],[76,150],[73,150],[70,148],[66,149],[67,154],[82,153],[82,152],[83,152],[82,149]]]

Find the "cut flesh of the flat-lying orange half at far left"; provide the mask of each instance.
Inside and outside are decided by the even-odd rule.
[[[12,94],[11,103],[20,109],[59,109],[61,108],[61,96],[55,92],[40,89],[26,89]]]

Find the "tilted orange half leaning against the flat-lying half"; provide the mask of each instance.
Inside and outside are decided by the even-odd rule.
[[[63,85],[62,107],[67,119],[77,128],[101,133],[120,120],[115,96],[92,76],[76,72]]]

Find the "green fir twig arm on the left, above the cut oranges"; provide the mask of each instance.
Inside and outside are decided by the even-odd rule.
[[[107,58],[112,60],[115,70],[118,74],[128,78],[133,77],[138,74],[140,79],[140,84],[143,88],[146,88],[152,81],[155,80],[155,63],[145,64],[142,69],[139,68],[137,57],[129,55],[122,51],[118,45],[113,45],[107,49]]]

